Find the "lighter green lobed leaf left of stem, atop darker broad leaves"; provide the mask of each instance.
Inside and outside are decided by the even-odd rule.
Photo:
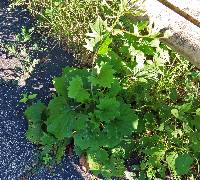
[[[90,94],[83,88],[83,81],[80,76],[72,78],[69,82],[68,96],[77,102],[85,103],[90,99]]]

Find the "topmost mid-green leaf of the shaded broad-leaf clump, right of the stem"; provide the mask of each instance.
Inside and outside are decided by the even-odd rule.
[[[91,83],[96,86],[102,86],[102,87],[108,87],[111,88],[112,83],[114,82],[114,70],[111,65],[108,63],[101,64],[101,67],[96,67],[97,70],[100,70],[100,72],[97,72],[96,76],[90,76],[89,80]]]

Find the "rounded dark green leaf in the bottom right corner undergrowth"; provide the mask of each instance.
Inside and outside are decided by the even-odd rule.
[[[193,164],[193,158],[189,154],[181,154],[175,160],[176,172],[179,176],[187,174]]]

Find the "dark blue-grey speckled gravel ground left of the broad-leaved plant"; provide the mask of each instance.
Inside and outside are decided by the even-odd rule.
[[[0,42],[13,42],[14,34],[23,26],[30,27],[32,21],[26,10],[9,11],[6,1],[0,1]],[[41,37],[37,37],[38,41]],[[21,76],[14,65],[20,59],[8,57],[0,46],[0,179],[2,180],[81,180],[84,178],[77,166],[77,157],[65,157],[61,164],[52,168],[37,167],[37,147],[25,138],[27,122],[23,116],[26,105],[19,100],[23,93],[37,94],[38,100],[48,103],[51,98],[52,78],[58,76],[62,68],[72,65],[73,57],[64,52],[55,42],[48,40],[45,53],[37,58],[48,60],[37,64],[24,84],[19,85]],[[51,47],[55,46],[52,50]],[[9,70],[9,71],[8,71]],[[8,73],[5,73],[8,72]],[[10,73],[10,74],[9,74]],[[16,78],[18,77],[18,79]],[[10,77],[10,78],[8,78]]]

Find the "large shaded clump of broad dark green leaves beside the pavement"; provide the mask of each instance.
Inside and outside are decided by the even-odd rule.
[[[112,66],[101,63],[93,71],[65,68],[63,75],[55,78],[58,96],[48,107],[39,102],[26,110],[27,137],[34,143],[49,146],[49,152],[56,151],[57,160],[65,150],[65,146],[58,145],[73,138],[76,153],[87,154],[94,173],[122,176],[124,138],[137,129],[138,117],[120,98],[123,88]],[[98,81],[103,75],[112,79],[106,83]]]

